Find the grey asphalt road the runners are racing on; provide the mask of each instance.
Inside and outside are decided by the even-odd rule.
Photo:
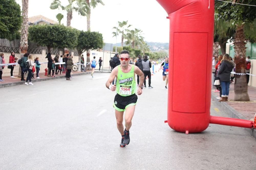
[[[166,125],[159,72],[138,96],[131,142],[120,148],[108,76],[1,88],[0,169],[256,169],[256,141],[242,128],[210,124],[186,135]],[[213,103],[211,115],[227,116]]]

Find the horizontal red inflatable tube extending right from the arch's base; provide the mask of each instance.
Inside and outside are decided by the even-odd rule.
[[[219,116],[210,116],[210,123],[219,124],[219,125],[227,125],[227,126],[238,126],[244,128],[253,128],[254,122],[250,120],[244,119],[236,119],[229,117],[219,117]]]

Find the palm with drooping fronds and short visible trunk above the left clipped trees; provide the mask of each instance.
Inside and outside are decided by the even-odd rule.
[[[76,2],[76,5],[74,2]],[[51,9],[61,8],[62,10],[67,11],[67,27],[70,27],[71,25],[73,10],[78,12],[81,16],[87,15],[85,0],[68,0],[67,6],[62,6],[60,0],[54,0],[51,3],[50,8]]]

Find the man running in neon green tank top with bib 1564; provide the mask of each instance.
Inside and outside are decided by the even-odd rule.
[[[135,111],[135,105],[137,102],[137,95],[135,94],[136,82],[135,74],[140,76],[140,84],[137,90],[137,94],[142,94],[144,74],[137,67],[129,64],[130,60],[129,51],[123,50],[120,53],[121,65],[113,68],[108,81],[106,82],[106,88],[111,91],[116,91],[113,107],[115,108],[116,124],[119,132],[122,135],[120,147],[125,147],[130,143],[129,130],[132,126],[132,117]],[[116,77],[116,84],[112,85],[112,81]],[[123,126],[123,114],[125,111],[125,129]]]

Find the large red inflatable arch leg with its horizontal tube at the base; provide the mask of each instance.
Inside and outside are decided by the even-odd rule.
[[[170,20],[168,125],[201,132],[209,123],[252,128],[249,120],[210,116],[214,0],[157,0]]]

